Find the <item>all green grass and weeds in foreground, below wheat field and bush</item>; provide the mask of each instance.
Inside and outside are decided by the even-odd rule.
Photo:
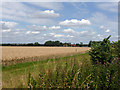
[[[88,53],[3,67],[3,88],[119,88],[119,60],[92,65]]]

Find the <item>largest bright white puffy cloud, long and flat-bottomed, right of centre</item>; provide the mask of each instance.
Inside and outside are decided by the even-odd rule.
[[[77,20],[77,19],[71,19],[71,20],[65,20],[59,23],[60,25],[63,26],[73,26],[73,27],[82,27],[82,26],[89,26],[91,25],[91,22],[89,20],[82,19]]]

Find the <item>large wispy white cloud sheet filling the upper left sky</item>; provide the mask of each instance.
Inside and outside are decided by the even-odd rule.
[[[54,10],[40,11],[30,5],[21,2],[7,2],[2,5],[3,19],[27,22],[32,24],[53,25],[57,21],[53,18],[59,17]]]

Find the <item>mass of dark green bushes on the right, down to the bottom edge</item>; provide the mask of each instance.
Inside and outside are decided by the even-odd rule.
[[[108,38],[100,43],[92,43],[89,55],[93,64],[93,82],[101,89],[119,88],[120,41],[112,44]]]

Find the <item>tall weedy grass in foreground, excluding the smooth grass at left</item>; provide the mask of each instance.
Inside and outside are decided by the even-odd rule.
[[[92,65],[86,57],[48,61],[48,68],[40,68],[37,78],[29,73],[29,88],[118,88],[117,60],[104,65]]]

